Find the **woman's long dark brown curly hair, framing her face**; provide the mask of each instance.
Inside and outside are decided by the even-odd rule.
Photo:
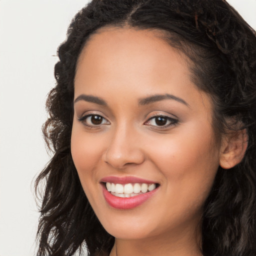
[[[204,256],[256,255],[256,35],[225,0],[92,0],[72,20],[58,48],[56,85],[48,94],[46,144],[54,155],[35,182],[44,190],[37,255],[109,253],[114,237],[95,216],[70,153],[74,75],[88,38],[104,26],[165,31],[164,39],[191,59],[191,79],[213,101],[216,137],[246,128],[242,161],[218,168],[204,205]],[[240,125],[227,122],[230,117]]]

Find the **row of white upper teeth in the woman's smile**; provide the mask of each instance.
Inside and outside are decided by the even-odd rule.
[[[155,184],[146,184],[146,183],[128,183],[128,184],[115,184],[106,182],[106,189],[109,192],[115,194],[131,194],[131,193],[145,193],[147,191],[152,191],[155,189]]]

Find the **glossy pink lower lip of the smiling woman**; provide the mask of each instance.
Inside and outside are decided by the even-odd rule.
[[[110,192],[107,191],[105,185],[102,185],[103,187],[103,195],[105,197],[106,202],[113,208],[116,209],[132,209],[143,202],[145,202],[147,199],[149,199],[157,190],[158,187],[153,189],[150,192],[146,192],[143,194],[138,194],[131,197],[118,197],[112,195]]]

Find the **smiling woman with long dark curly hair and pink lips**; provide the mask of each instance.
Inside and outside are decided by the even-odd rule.
[[[256,36],[223,0],[93,0],[55,65],[37,255],[256,255]]]

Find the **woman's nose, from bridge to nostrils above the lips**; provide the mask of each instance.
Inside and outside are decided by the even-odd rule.
[[[103,161],[115,169],[141,164],[144,161],[144,153],[140,137],[134,129],[126,126],[116,128],[103,153]]]

